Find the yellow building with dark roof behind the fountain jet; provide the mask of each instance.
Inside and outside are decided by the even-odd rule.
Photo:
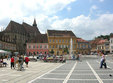
[[[72,31],[47,30],[49,52],[54,55],[76,53],[76,36]],[[72,50],[71,50],[72,49]]]

